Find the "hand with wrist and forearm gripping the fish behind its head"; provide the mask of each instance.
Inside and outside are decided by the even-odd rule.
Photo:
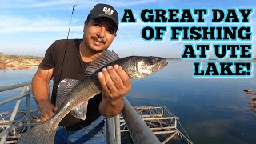
[[[98,73],[98,81],[102,86],[102,102],[98,106],[105,117],[118,115],[122,108],[122,98],[130,91],[130,77],[121,66],[114,65],[102,69]]]

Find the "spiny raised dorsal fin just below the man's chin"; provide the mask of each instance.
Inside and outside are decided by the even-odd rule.
[[[114,51],[104,50],[99,58],[93,62],[90,62],[90,64],[86,67],[86,74],[93,74],[96,70],[106,66],[106,64],[110,62],[114,62],[117,59],[119,59],[118,54],[116,54]]]

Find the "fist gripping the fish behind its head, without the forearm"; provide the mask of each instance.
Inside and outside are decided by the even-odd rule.
[[[103,68],[98,80],[102,86],[102,98],[108,102],[122,99],[131,89],[130,77],[118,65]]]

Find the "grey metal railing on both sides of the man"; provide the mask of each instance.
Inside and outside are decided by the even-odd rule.
[[[38,110],[30,110],[30,98],[34,98],[32,96],[31,92],[31,82],[23,82],[16,85],[11,86],[0,86],[0,92],[6,91],[6,90],[13,90],[17,88],[22,88],[21,93],[18,96],[14,96],[13,98],[6,99],[2,102],[0,102],[0,106],[5,105],[10,102],[17,101],[14,110],[10,114],[10,118],[8,119],[7,125],[2,125],[4,127],[4,130],[0,133],[0,144],[3,143],[15,143],[16,140],[8,140],[7,138],[18,138],[18,136],[9,135],[10,132],[14,131],[13,133],[16,134],[15,129],[18,127],[23,127],[22,132],[25,130],[30,130],[32,126],[35,126],[37,123],[31,122],[32,118],[35,114],[38,114]],[[18,109],[21,105],[22,98],[26,98],[26,112],[22,118],[19,118],[18,120],[15,119],[18,114]],[[155,135],[152,133],[152,131],[146,126],[146,124],[143,122],[142,118],[135,112],[133,107],[130,105],[130,103],[124,99],[124,109],[122,110],[122,115],[126,119],[127,125],[129,125],[129,130],[131,137],[133,138],[134,142],[148,142],[148,143],[160,143],[159,140],[155,137]],[[0,114],[2,117],[2,115]],[[3,117],[2,117],[3,118]],[[138,126],[137,128],[134,128],[134,126]],[[106,118],[106,142],[110,144],[121,144],[121,132],[120,132],[120,118],[119,114],[112,118]],[[142,133],[141,133],[142,132]],[[137,136],[136,136],[137,135]],[[139,135],[139,137],[138,137]],[[136,137],[136,138],[134,138]]]

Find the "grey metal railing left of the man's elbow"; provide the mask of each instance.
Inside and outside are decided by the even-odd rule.
[[[38,113],[38,110],[30,110],[30,96],[32,94],[31,92],[31,82],[23,82],[23,83],[19,83],[19,84],[15,84],[15,85],[10,85],[10,86],[0,86],[0,92],[6,91],[6,90],[13,90],[13,89],[17,89],[17,88],[21,88],[21,92],[19,95],[17,96],[13,96],[12,98],[8,98],[6,100],[3,100],[2,102],[0,102],[0,106],[3,106],[7,103],[10,102],[14,102],[16,101],[15,105],[14,105],[14,109],[12,112],[6,113],[7,117],[5,117],[5,113],[1,113],[1,118],[3,120],[2,122],[2,132],[0,133],[0,138],[1,141],[0,143],[15,143],[16,140],[13,139],[17,139],[20,134],[16,134],[16,128],[23,126],[26,126],[27,130],[31,129],[31,118],[32,115]],[[17,114],[19,114],[18,110],[19,107],[21,105],[22,102],[22,98],[26,98],[26,114],[20,118],[20,119],[16,119]],[[8,122],[5,123],[5,120],[8,120]],[[8,142],[6,142],[6,138],[9,137],[10,140]]]

